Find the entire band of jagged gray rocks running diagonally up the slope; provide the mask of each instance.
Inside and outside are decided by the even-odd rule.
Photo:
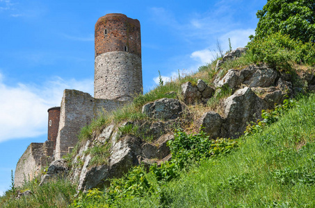
[[[226,56],[229,60],[239,57],[242,50],[234,51],[234,56]],[[300,83],[306,83],[309,89],[315,89],[314,75],[300,73],[293,83],[293,76],[278,72],[268,66],[252,65],[241,70],[229,69],[221,78],[219,71],[211,87],[203,80],[197,80],[194,85],[190,82],[181,85],[181,95],[184,103],[175,98],[161,98],[143,105],[142,112],[147,121],[124,121],[120,124],[107,125],[102,132],[95,134],[92,139],[81,143],[72,161],[72,171],[63,165],[63,161],[56,161],[49,166],[42,183],[57,175],[66,175],[72,182],[78,183],[78,189],[87,191],[95,187],[108,184],[112,177],[122,177],[129,168],[145,164],[147,170],[151,164],[158,165],[172,158],[168,141],[174,139],[170,126],[181,126],[180,123],[190,116],[187,105],[197,103],[207,104],[209,98],[221,99],[223,112],[207,110],[199,119],[191,124],[209,135],[209,138],[218,137],[236,138],[243,134],[250,121],[261,119],[261,110],[272,109],[275,104],[282,103],[287,96],[293,96],[302,89]],[[298,84],[297,84],[298,83]],[[223,98],[220,92],[230,89],[231,96]],[[313,88],[312,88],[313,87]],[[215,93],[216,92],[216,93]],[[172,96],[175,92],[172,92]],[[219,96],[220,95],[220,96]],[[184,114],[185,110],[185,114]],[[186,113],[187,112],[187,113]],[[183,116],[185,115],[185,116]],[[131,125],[135,131],[122,133],[122,129]],[[124,135],[127,134],[127,135]],[[93,159],[90,149],[95,146],[106,146],[108,156],[98,164]]]

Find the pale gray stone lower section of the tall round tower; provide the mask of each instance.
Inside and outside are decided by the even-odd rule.
[[[108,52],[95,58],[95,98],[132,101],[142,93],[141,59],[137,55]]]

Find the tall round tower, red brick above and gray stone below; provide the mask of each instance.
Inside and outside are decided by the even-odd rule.
[[[132,101],[143,94],[140,22],[107,14],[95,24],[94,97]]]

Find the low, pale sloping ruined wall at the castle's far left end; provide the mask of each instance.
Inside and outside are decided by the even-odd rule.
[[[45,156],[43,152],[43,143],[31,143],[22,157],[17,162],[15,168],[15,186],[21,187],[24,180],[32,180],[41,170],[42,157]]]

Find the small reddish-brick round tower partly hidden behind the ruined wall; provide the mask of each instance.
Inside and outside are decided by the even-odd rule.
[[[60,121],[60,107],[51,107],[48,111],[48,141],[54,143],[54,150],[56,150],[56,139],[58,135],[59,121]]]

